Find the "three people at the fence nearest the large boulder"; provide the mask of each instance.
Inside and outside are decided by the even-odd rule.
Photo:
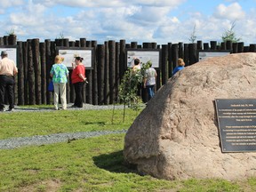
[[[173,69],[172,76],[174,76],[178,71],[185,68],[185,62],[183,59],[179,58],[178,66]],[[134,66],[132,67],[132,73],[136,74],[140,72],[140,60],[134,59]],[[156,84],[156,69],[152,67],[152,62],[148,62],[148,68],[143,76],[143,87],[148,91],[148,100],[151,100],[155,94],[155,84]],[[140,83],[138,84],[138,91],[140,92]]]

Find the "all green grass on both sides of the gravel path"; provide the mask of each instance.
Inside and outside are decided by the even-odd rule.
[[[123,124],[122,111],[116,110],[115,113],[114,124],[111,124],[112,110],[3,113],[0,114],[0,135],[2,138],[12,138],[77,130],[79,132],[121,130],[127,129],[137,116],[136,112],[127,110]],[[76,118],[73,118],[74,116]],[[8,121],[11,123],[5,127]],[[22,127],[22,130],[19,130],[19,127]],[[0,150],[0,191],[242,192],[256,190],[255,178],[231,182],[196,179],[158,180],[151,176],[141,176],[134,167],[125,164],[123,148],[124,134],[111,134],[39,147],[2,149]]]

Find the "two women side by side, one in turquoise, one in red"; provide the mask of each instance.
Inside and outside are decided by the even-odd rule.
[[[50,76],[54,86],[54,108],[59,110],[59,94],[62,109],[67,109],[66,84],[68,83],[68,68],[63,64],[64,58],[57,55],[52,65]],[[84,58],[75,57],[75,62],[72,63],[71,83],[74,85],[76,98],[72,108],[83,108],[83,85],[86,82],[85,67],[83,64]]]

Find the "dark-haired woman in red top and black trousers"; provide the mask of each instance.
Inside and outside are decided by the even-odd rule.
[[[73,108],[83,108],[83,86],[86,81],[85,67],[82,61],[84,58],[75,57],[75,63],[72,63],[73,72],[71,75],[72,84],[74,84],[76,98]]]

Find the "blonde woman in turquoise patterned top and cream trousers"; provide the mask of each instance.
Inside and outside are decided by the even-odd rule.
[[[60,55],[55,57],[50,76],[54,86],[54,108],[59,110],[59,92],[62,109],[67,109],[66,84],[68,83],[68,68],[63,64],[64,58]]]

